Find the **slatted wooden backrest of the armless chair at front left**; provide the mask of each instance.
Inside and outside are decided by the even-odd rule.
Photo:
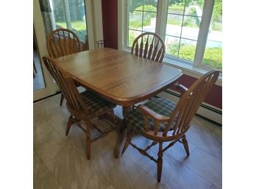
[[[82,96],[77,90],[71,76],[51,57],[43,57],[43,63],[57,82],[57,85],[67,100],[68,107],[76,113],[89,114],[87,107],[82,101]]]

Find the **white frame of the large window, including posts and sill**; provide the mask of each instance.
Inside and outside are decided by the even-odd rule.
[[[163,63],[175,66],[182,69],[184,74],[199,78],[202,74],[209,71],[210,66],[203,64],[203,57],[205,54],[205,46],[207,43],[207,35],[210,27],[210,20],[213,13],[215,0],[205,0],[205,4],[202,10],[202,19],[199,27],[199,35],[196,43],[195,57],[192,63],[188,64],[188,61],[181,59],[174,59],[170,55],[166,54],[163,59]],[[166,22],[167,22],[167,8],[168,0],[158,0],[157,3],[157,21],[156,31],[157,35],[160,35],[163,40],[166,37]],[[131,48],[127,46],[127,31],[129,29],[129,13],[128,13],[128,1],[118,1],[118,49],[123,51],[131,51]],[[222,76],[219,76],[217,85],[222,85]]]

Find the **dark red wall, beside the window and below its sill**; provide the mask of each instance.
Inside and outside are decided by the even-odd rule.
[[[104,46],[118,49],[118,0],[102,0]],[[189,88],[196,78],[183,75],[179,83]],[[208,93],[205,102],[222,109],[222,88],[214,85]]]

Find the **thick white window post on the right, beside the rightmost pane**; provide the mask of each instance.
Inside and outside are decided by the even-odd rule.
[[[210,22],[213,14],[213,6],[215,0],[205,0],[202,19],[199,28],[199,35],[196,43],[196,52],[193,60],[193,65],[199,67],[202,65],[202,60],[205,54],[205,46],[207,43],[207,35],[210,27]]]

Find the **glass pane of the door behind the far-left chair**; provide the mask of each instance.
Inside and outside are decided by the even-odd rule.
[[[46,35],[54,29],[65,28],[75,32],[88,50],[88,26],[84,0],[39,0]]]

